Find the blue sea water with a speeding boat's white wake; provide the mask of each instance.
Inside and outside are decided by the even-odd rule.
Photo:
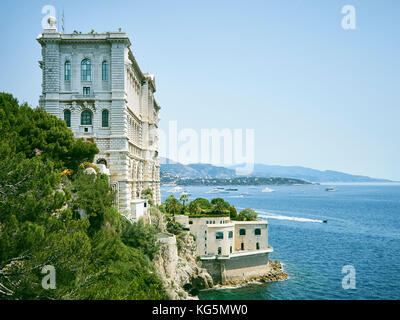
[[[283,262],[290,277],[202,291],[200,299],[400,299],[400,186],[337,185],[334,192],[326,187],[273,186],[270,193],[236,187],[226,194],[186,187],[191,200],[219,196],[267,219],[270,258]],[[169,189],[162,188],[163,199]],[[356,289],[342,288],[346,265],[356,270]]]

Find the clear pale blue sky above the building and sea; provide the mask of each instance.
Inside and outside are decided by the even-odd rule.
[[[66,32],[128,33],[162,128],[253,128],[256,162],[400,180],[400,1],[1,0],[0,91],[33,106],[46,4]]]

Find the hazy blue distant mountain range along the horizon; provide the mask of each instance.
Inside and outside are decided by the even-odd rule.
[[[230,168],[217,167],[211,164],[188,164],[174,162],[169,159],[162,158],[161,177],[179,177],[179,178],[196,178],[196,179],[228,179],[238,177],[236,168],[241,165]],[[321,182],[391,182],[385,179],[376,179],[367,176],[352,175],[332,170],[315,170],[299,166],[273,166],[265,164],[255,164],[251,177],[260,178],[291,178],[300,179],[313,183]]]

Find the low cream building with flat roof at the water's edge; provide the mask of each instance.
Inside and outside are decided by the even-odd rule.
[[[260,278],[270,271],[268,222],[232,221],[222,216],[175,216],[196,238],[202,266],[215,283]]]

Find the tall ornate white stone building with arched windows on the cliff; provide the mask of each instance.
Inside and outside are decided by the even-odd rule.
[[[95,163],[109,169],[118,208],[134,221],[147,206],[143,190],[161,202],[154,76],[140,70],[125,33],[62,34],[55,25],[50,18],[37,39],[39,104],[64,119],[75,137],[97,144]]]

